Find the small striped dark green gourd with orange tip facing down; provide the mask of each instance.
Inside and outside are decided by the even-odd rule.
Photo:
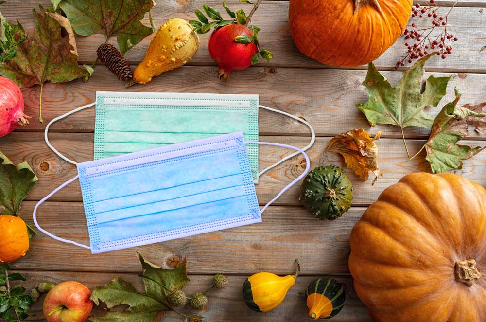
[[[312,320],[330,319],[341,312],[346,298],[344,288],[335,279],[319,278],[307,287],[305,301]]]

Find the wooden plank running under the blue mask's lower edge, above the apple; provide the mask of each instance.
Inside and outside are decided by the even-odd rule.
[[[20,215],[27,223],[33,223],[34,206],[32,201],[23,204]],[[294,269],[294,260],[298,258],[304,275],[346,275],[349,274],[349,234],[364,209],[352,207],[337,220],[321,221],[303,207],[270,206],[259,224],[96,255],[39,232],[33,237],[27,256],[12,266],[36,270],[138,272],[135,256],[138,250],[154,263],[165,262],[173,254],[186,254],[190,259],[188,271],[192,274],[215,271],[285,274]],[[82,203],[47,202],[39,207],[37,219],[47,231],[89,245]]]

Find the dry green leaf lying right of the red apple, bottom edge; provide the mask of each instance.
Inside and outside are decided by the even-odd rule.
[[[158,321],[158,317],[163,311],[169,308],[154,299],[153,297],[139,293],[130,283],[120,277],[114,278],[105,286],[97,286],[91,293],[90,299],[99,305],[104,302],[108,308],[119,305],[128,305],[123,312],[109,311],[102,317],[90,317],[93,322],[104,321]]]

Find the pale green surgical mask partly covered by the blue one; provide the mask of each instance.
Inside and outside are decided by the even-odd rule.
[[[87,106],[88,107],[88,106]],[[258,95],[96,92],[94,160],[243,131],[245,141],[258,141],[258,110],[265,108],[311,125],[291,114],[259,106]],[[85,107],[86,108],[86,107]],[[74,111],[73,111],[74,112]],[[255,183],[259,173],[258,145],[247,146]]]

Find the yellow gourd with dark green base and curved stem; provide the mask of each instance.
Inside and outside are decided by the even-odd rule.
[[[268,312],[280,305],[289,289],[294,286],[300,272],[298,260],[294,275],[280,277],[273,273],[261,272],[248,277],[243,283],[243,298],[254,311]]]

